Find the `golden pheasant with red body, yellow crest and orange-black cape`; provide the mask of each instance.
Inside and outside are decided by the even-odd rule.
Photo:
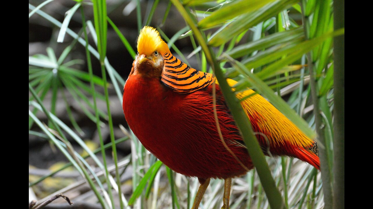
[[[254,165],[219,83],[213,74],[173,56],[151,26],[141,29],[137,51],[123,90],[129,128],[173,171],[198,178],[201,185],[192,209],[198,209],[211,178],[225,180],[222,208],[228,209],[232,178],[246,174]],[[227,82],[230,86],[237,83],[229,78]],[[248,95],[252,96],[241,106],[264,154],[298,158],[320,170],[316,141],[253,90],[237,97]]]

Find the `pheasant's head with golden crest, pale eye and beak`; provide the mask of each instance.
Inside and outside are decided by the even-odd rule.
[[[141,29],[137,39],[137,51],[134,73],[159,77],[164,65],[162,55],[170,53],[170,49],[155,28],[145,26]]]

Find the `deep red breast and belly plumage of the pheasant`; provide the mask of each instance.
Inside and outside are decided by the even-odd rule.
[[[217,114],[223,138],[241,140],[223,104],[219,86],[216,92],[220,98]],[[123,110],[129,127],[144,147],[172,170],[202,179],[245,174],[247,171],[220,141],[210,94],[211,86],[203,91],[179,94],[157,78],[131,75],[123,94]],[[245,166],[252,168],[247,149],[226,141]]]

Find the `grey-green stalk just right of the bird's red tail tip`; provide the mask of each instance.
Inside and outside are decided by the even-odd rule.
[[[308,17],[305,17],[305,0],[301,1],[301,9],[302,9],[302,20],[304,25],[304,35],[306,39],[309,39],[309,30],[307,25],[309,25]],[[333,208],[333,190],[332,190],[332,178],[331,178],[331,171],[329,167],[329,160],[328,160],[328,151],[325,149],[325,138],[324,138],[324,130],[323,130],[323,119],[320,114],[320,107],[319,107],[319,97],[318,97],[318,90],[315,78],[315,72],[313,67],[313,60],[311,57],[311,52],[307,53],[307,60],[308,60],[308,70],[310,72],[310,86],[311,86],[311,96],[312,102],[314,105],[313,111],[315,115],[315,124],[316,124],[316,133],[317,139],[320,143],[319,146],[319,154],[320,154],[320,167],[321,167],[321,178],[323,180],[323,191],[324,191],[324,203],[325,209],[332,209]]]

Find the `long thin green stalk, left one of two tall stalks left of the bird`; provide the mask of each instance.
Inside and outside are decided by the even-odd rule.
[[[104,167],[105,167],[105,180],[107,182],[107,191],[109,193],[110,201],[112,203],[112,208],[115,209],[115,203],[114,203],[114,198],[113,198],[113,193],[112,193],[112,185],[110,184],[110,181],[109,181],[109,175],[110,174],[109,174],[109,171],[107,170],[104,140],[103,140],[102,134],[101,134],[100,116],[98,114],[98,109],[97,109],[96,91],[95,91],[94,82],[93,82],[93,70],[92,70],[91,54],[90,54],[90,51],[88,50],[88,35],[87,35],[87,30],[86,30],[83,6],[81,6],[81,14],[82,14],[84,38],[85,38],[85,42],[86,42],[86,44],[85,44],[85,54],[87,56],[87,67],[88,67],[88,73],[90,75],[90,85],[91,85],[91,89],[92,89],[92,98],[93,98],[93,107],[94,107],[93,109],[95,111],[95,116],[96,116],[96,121],[95,122],[96,122],[98,137],[100,138],[101,155],[102,155],[102,160],[103,160]],[[106,85],[106,83],[104,83],[104,85]],[[120,194],[119,194],[119,199],[121,199]]]

